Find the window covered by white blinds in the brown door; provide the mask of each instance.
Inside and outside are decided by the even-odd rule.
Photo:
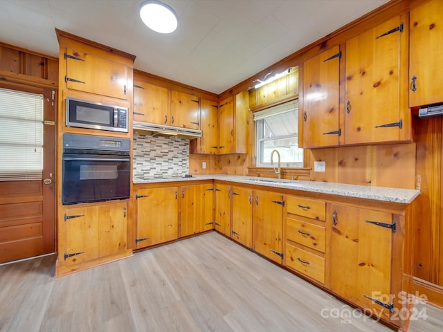
[[[0,181],[41,180],[43,95],[0,89]]]

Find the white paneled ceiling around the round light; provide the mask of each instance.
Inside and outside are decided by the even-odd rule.
[[[0,42],[57,57],[58,28],[219,94],[388,1],[163,0],[179,27],[161,35],[138,16],[143,0],[0,0]]]

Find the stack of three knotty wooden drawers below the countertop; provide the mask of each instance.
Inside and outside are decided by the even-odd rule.
[[[325,284],[326,203],[287,196],[284,264]]]

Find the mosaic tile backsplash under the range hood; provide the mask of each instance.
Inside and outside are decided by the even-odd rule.
[[[174,178],[189,173],[189,140],[134,133],[134,178]]]

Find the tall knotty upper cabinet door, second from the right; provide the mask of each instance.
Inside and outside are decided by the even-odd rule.
[[[401,24],[394,17],[346,42],[345,144],[395,141],[405,130],[399,55],[407,32],[395,30]]]

